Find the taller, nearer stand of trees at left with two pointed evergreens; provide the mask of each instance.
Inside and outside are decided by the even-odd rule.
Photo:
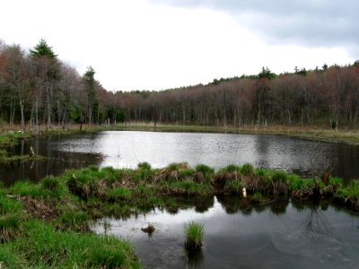
[[[0,41],[0,119],[35,132],[40,125],[100,124],[113,108],[101,106],[100,95],[107,91],[94,74],[92,66],[78,74],[44,39],[28,52]]]

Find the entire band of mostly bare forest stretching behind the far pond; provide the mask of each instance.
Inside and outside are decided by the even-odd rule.
[[[152,122],[198,126],[359,124],[359,61],[214,79],[164,91],[107,91],[95,69],[78,74],[41,39],[29,51],[0,41],[0,122],[39,126]],[[120,80],[120,77],[118,78]]]

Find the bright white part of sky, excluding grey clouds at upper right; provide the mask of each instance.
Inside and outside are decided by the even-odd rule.
[[[258,30],[206,7],[133,1],[5,0],[7,43],[33,47],[41,38],[80,74],[92,65],[107,90],[161,90],[214,78],[276,73],[354,59],[340,47],[268,45]],[[279,45],[278,45],[279,44]]]

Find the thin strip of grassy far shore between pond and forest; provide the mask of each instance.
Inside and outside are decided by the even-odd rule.
[[[39,134],[33,134],[31,130],[21,131],[20,126],[3,126],[0,129],[0,146],[17,143],[22,139],[31,138],[36,135],[61,135],[61,134],[83,134],[97,133],[101,131],[146,131],[146,132],[188,132],[188,133],[209,133],[209,134],[263,134],[263,135],[283,135],[300,139],[323,141],[328,143],[350,143],[359,144],[359,130],[339,129],[333,130],[320,126],[183,126],[183,125],[163,125],[153,123],[124,123],[110,126],[89,126],[80,125],[67,126],[66,129],[53,127],[46,130],[45,126],[40,126]]]

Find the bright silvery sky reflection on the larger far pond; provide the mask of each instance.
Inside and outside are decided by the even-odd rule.
[[[330,164],[333,167],[336,162],[339,168],[349,166],[347,169],[353,170],[350,163],[354,160],[348,164],[346,154],[359,155],[359,147],[355,146],[256,134],[108,131],[74,136],[55,147],[70,152],[99,152],[105,157],[101,167],[136,168],[138,162],[147,161],[153,168],[162,168],[171,162],[188,161],[191,166],[204,163],[219,169],[249,162],[256,167],[306,174]],[[359,176],[357,165],[355,172]]]

